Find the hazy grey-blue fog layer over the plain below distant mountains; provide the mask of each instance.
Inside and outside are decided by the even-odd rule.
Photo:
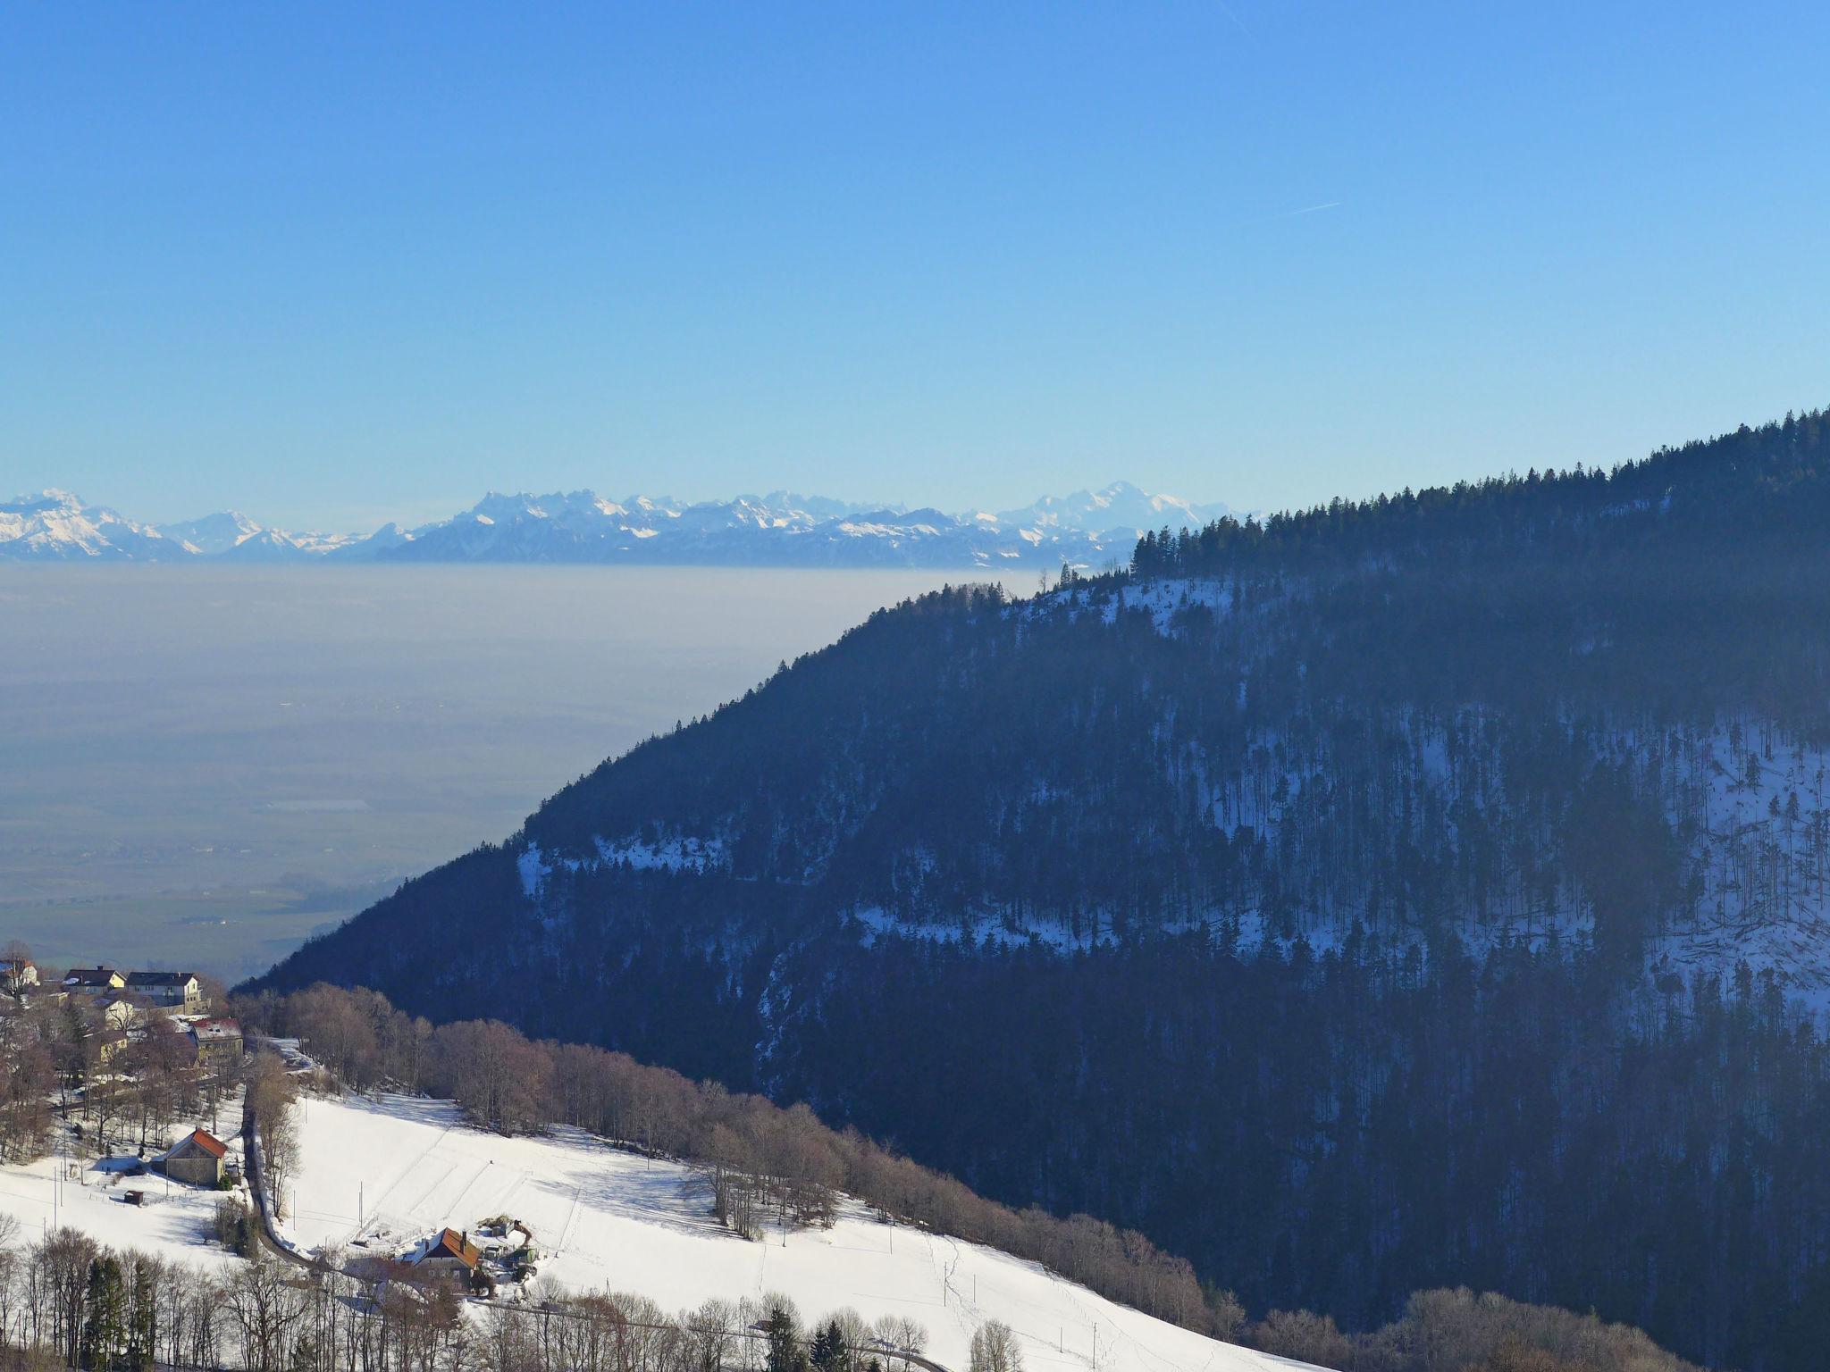
[[[0,573],[0,940],[264,966],[961,573]]]

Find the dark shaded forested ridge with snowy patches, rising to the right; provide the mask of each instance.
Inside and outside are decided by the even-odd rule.
[[[1089,1211],[1254,1310],[1830,1341],[1823,413],[875,615],[265,984]]]

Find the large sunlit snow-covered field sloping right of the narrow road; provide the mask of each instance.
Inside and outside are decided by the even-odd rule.
[[[690,1167],[620,1152],[582,1134],[500,1138],[465,1129],[445,1101],[306,1099],[284,1233],[300,1248],[393,1253],[443,1226],[511,1215],[533,1231],[540,1275],[575,1290],[637,1292],[668,1310],[763,1292],[805,1317],[844,1306],[908,1315],[928,1357],[966,1367],[972,1332],[1010,1324],[1025,1365],[1102,1372],[1230,1372],[1294,1367],[1116,1306],[994,1249],[891,1227],[847,1204],[831,1229],[739,1238],[712,1218]],[[361,1206],[361,1217],[359,1217]]]

